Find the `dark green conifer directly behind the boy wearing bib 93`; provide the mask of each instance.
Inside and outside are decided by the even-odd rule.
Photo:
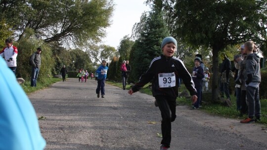
[[[153,58],[160,56],[160,49],[163,38],[168,37],[168,30],[163,20],[161,12],[150,12],[149,15],[144,15],[140,23],[143,25],[140,32],[140,38],[135,40],[130,53],[130,62],[132,66],[131,80],[137,81],[140,75],[144,74],[149,68]]]

